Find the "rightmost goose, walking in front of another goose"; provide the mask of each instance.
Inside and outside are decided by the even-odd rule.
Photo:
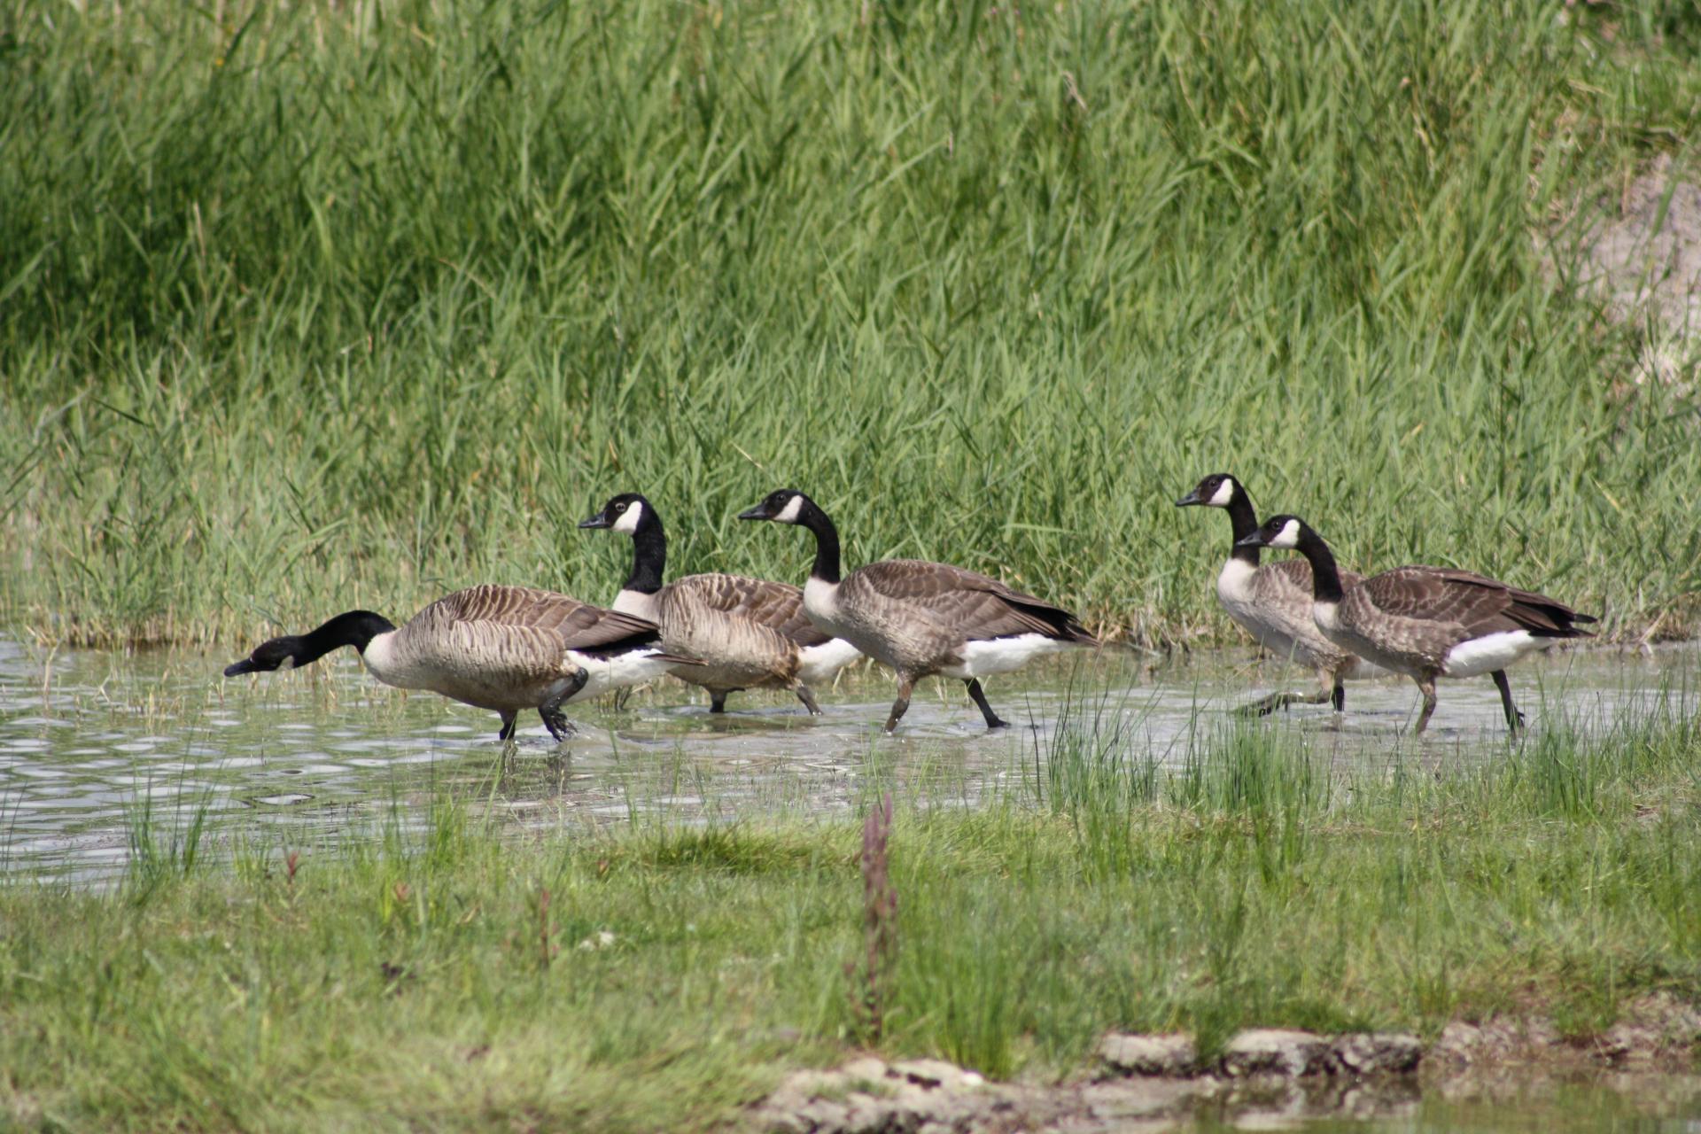
[[[1417,733],[1436,711],[1437,677],[1488,673],[1514,733],[1524,714],[1512,704],[1505,666],[1562,638],[1594,638],[1575,622],[1594,622],[1563,602],[1507,587],[1471,571],[1403,566],[1342,587],[1323,537],[1296,515],[1277,515],[1235,541],[1245,547],[1294,547],[1311,563],[1317,629],[1385,670],[1408,675],[1424,692]]]

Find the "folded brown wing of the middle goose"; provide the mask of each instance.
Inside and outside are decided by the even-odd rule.
[[[1068,610],[1005,587],[995,578],[947,563],[886,559],[852,571],[842,583],[854,595],[868,588],[881,598],[913,602],[941,626],[964,638],[1044,634],[1094,644],[1092,634]]]

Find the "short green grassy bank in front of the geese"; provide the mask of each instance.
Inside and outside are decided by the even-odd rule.
[[[1696,1000],[1692,700],[1347,774],[1288,729],[1201,729],[1158,768],[1107,728],[973,811],[898,785],[878,1035],[844,819],[515,836],[441,804],[291,848],[138,811],[119,886],[0,886],[0,1114],[704,1129],[859,1046],[1048,1078],[1112,1027],[1211,1049],[1541,1013],[1587,1037],[1645,993]],[[866,801],[888,787],[871,768]]]

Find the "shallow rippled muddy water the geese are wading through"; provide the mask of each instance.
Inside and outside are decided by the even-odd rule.
[[[1106,651],[1005,677],[990,689],[1019,728],[987,733],[956,682],[925,682],[896,738],[881,738],[891,682],[878,672],[822,690],[811,719],[789,697],[735,694],[711,716],[696,689],[663,683],[624,711],[575,706],[578,734],[556,746],[532,717],[503,751],[493,714],[373,682],[354,655],[299,673],[223,680],[228,661],[189,651],[43,651],[0,639],[0,869],[102,877],[122,867],[129,831],[204,813],[223,831],[279,843],[366,836],[418,821],[446,792],[534,826],[833,811],[856,806],[879,767],[907,792],[973,804],[1019,787],[1067,716],[1114,721],[1136,751],[1177,762],[1235,706],[1305,675],[1249,653],[1186,663]],[[1687,689],[1692,649],[1563,653],[1516,670],[1534,728],[1563,712],[1604,728]],[[1272,719],[1342,765],[1478,760],[1505,751],[1487,680],[1442,687],[1429,734],[1403,734],[1410,682],[1354,683],[1339,729],[1323,706]],[[235,825],[235,826],[233,826]]]

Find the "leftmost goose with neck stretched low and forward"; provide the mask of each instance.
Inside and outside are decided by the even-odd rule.
[[[561,706],[660,677],[689,656],[662,651],[655,622],[531,587],[469,587],[444,595],[405,626],[371,610],[338,614],[299,636],[272,638],[225,668],[225,677],[291,670],[354,646],[373,677],[396,689],[429,689],[502,714],[514,736],[522,709],[538,709],[549,734],[572,731]]]

